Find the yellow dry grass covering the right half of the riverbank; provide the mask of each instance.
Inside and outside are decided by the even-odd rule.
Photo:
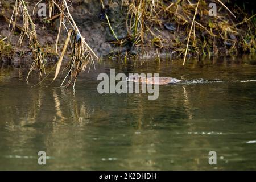
[[[236,23],[236,15],[246,17],[247,14],[239,7],[230,9],[219,0],[215,2],[218,7],[217,16],[209,16],[210,1],[201,0],[197,11],[196,2],[124,1],[128,9],[128,39],[139,47],[147,46],[146,40],[150,40],[149,43],[158,51],[172,49],[179,55],[187,55],[187,52],[190,55],[216,55],[220,50],[227,50],[228,53],[255,51],[256,25],[253,17]],[[175,25],[174,32],[168,34],[172,38],[161,35],[165,23]],[[245,31],[244,27],[240,29],[244,24],[249,31]]]

